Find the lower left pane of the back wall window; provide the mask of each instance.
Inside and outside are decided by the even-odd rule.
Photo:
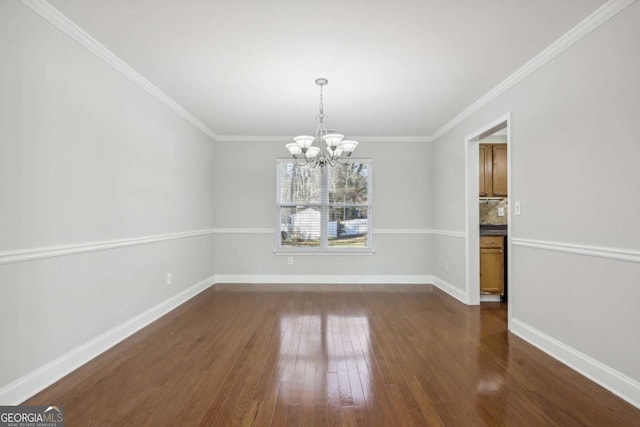
[[[280,246],[320,246],[320,206],[280,208]]]

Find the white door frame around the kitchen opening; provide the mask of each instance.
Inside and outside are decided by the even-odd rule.
[[[507,113],[491,123],[481,127],[465,138],[465,280],[467,291],[467,303],[469,305],[480,304],[480,208],[478,203],[478,191],[480,189],[480,170],[478,146],[480,140],[493,133],[497,128],[506,125],[507,129],[507,223],[509,226],[507,239],[507,283],[509,286],[508,318],[511,320],[511,307],[513,306],[513,281],[511,280],[511,234],[512,234],[512,182],[511,182],[511,113]]]

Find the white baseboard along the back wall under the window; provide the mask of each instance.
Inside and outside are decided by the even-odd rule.
[[[366,274],[216,274],[215,283],[267,284],[427,284],[430,275]]]

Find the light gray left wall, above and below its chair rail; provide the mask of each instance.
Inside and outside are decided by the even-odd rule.
[[[2,254],[211,228],[213,150],[22,3],[0,2]],[[0,389],[210,277],[213,249],[203,235],[0,265]]]

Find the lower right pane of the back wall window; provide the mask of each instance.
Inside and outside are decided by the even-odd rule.
[[[369,239],[369,208],[329,208],[327,235],[330,247],[366,248]]]

